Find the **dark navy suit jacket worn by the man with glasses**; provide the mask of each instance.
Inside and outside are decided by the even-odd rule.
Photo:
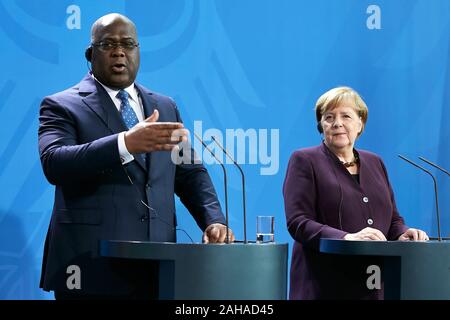
[[[172,99],[138,84],[136,88],[145,117],[156,108],[158,121],[181,121]],[[202,230],[224,223],[202,165],[175,165],[170,152],[151,152],[147,162],[135,156],[121,164],[117,138],[127,128],[90,74],[76,86],[46,97],[39,122],[42,167],[56,185],[41,275],[45,290],[65,289],[69,265],[80,267],[83,292],[134,290],[135,282],[144,278],[128,268],[131,263],[98,257],[98,240],[176,241],[174,193]]]

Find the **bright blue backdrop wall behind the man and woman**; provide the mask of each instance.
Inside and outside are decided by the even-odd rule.
[[[67,20],[75,4],[80,29]],[[366,21],[381,9],[381,29]],[[54,188],[41,171],[37,128],[43,96],[87,72],[91,24],[109,12],[136,22],[138,81],[172,96],[186,126],[279,129],[279,170],[246,164],[248,235],[256,215],[275,215],[276,241],[292,247],[281,187],[293,150],[320,143],[313,107],[326,90],[349,85],[369,106],[359,148],[380,154],[400,212],[436,236],[431,179],[398,153],[450,167],[450,1],[153,0],[0,2],[0,298],[46,299],[38,288]],[[70,21],[69,21],[70,22]],[[223,199],[222,173],[208,166]],[[240,178],[229,167],[230,224],[242,239]],[[434,171],[434,170],[433,170]],[[439,176],[443,235],[450,233],[449,181]],[[195,241],[201,232],[178,205]],[[180,242],[189,239],[178,233]]]

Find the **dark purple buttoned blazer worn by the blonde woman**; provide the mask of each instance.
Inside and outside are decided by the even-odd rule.
[[[290,299],[383,297],[383,290],[366,286],[367,267],[380,265],[380,260],[319,252],[322,238],[342,239],[372,227],[396,240],[408,228],[397,211],[383,161],[371,152],[357,152],[359,184],[324,143],[290,158],[283,186],[287,227],[295,240]]]

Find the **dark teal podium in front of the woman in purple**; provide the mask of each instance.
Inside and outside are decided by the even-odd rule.
[[[450,300],[450,241],[322,239],[320,251],[381,256],[384,297],[387,300]]]

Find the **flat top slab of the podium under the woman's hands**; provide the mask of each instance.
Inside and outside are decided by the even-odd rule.
[[[346,255],[403,256],[425,251],[450,253],[450,241],[350,241],[321,239],[320,252]]]

